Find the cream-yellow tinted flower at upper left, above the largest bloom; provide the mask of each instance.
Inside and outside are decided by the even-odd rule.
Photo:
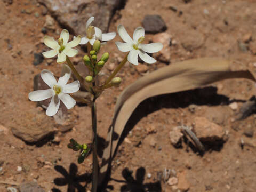
[[[81,36],[78,35],[73,41],[68,43],[69,33],[66,29],[63,29],[60,34],[60,38],[58,42],[55,41],[52,37],[45,36],[44,44],[53,50],[43,52],[44,57],[52,58],[58,54],[58,63],[62,63],[66,61],[66,55],[68,57],[74,57],[78,51],[73,49],[73,47],[77,46],[81,42]]]

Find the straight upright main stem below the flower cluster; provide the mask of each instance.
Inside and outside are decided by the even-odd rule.
[[[97,156],[97,114],[96,114],[96,103],[95,98],[92,101],[91,113],[92,113],[92,138],[93,138],[93,176],[92,176],[92,192],[97,191],[98,186],[98,175],[99,175],[99,163]]]

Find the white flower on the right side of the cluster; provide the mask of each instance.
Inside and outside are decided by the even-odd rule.
[[[134,65],[138,65],[138,55],[140,58],[149,64],[156,62],[153,57],[147,53],[155,53],[163,49],[162,43],[141,44],[145,40],[145,30],[143,27],[137,27],[133,32],[133,39],[127,34],[124,26],[117,27],[119,36],[125,43],[116,42],[117,48],[122,52],[129,51],[128,61]],[[146,53],[147,52],[147,53]]]

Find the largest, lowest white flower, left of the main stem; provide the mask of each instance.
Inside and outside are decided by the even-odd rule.
[[[60,100],[70,109],[75,106],[76,101],[67,93],[77,92],[80,88],[79,81],[67,84],[71,75],[71,69],[67,65],[63,65],[61,77],[57,82],[51,71],[42,70],[41,77],[43,81],[50,87],[47,90],[32,91],[28,94],[31,101],[43,101],[52,98],[46,110],[46,115],[53,116],[57,113],[60,106]]]

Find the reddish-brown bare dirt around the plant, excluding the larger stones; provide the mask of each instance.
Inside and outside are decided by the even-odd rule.
[[[91,183],[87,184],[85,180],[88,180],[92,170],[92,155],[83,164],[77,164],[78,154],[66,147],[70,138],[83,143],[90,142],[89,107],[75,106],[71,109],[71,113],[78,117],[76,124],[69,132],[57,133],[60,138],[58,145],[51,139],[41,146],[28,145],[14,137],[10,131],[20,124],[30,124],[36,111],[40,110],[35,102],[28,100],[28,93],[33,91],[34,76],[42,69],[58,74],[60,65],[55,63],[55,59],[51,65],[47,65],[46,60],[38,66],[33,65],[34,53],[45,49],[42,44],[44,35],[41,33],[45,22],[45,16],[41,14],[43,6],[36,1],[25,0],[14,0],[12,5],[1,1],[0,5],[0,124],[9,129],[7,134],[0,133],[0,191],[6,191],[6,187],[11,186],[3,184],[4,182],[18,184],[33,180],[47,192],[78,191],[81,188],[84,191],[90,190]],[[176,7],[177,11],[170,9],[170,6]],[[31,13],[22,13],[23,9],[29,9]],[[116,31],[116,27],[122,23],[131,35],[136,27],[141,26],[145,15],[161,14],[167,25],[166,32],[177,41],[177,45],[171,46],[169,65],[191,58],[221,57],[232,60],[236,69],[248,67],[255,73],[255,10],[256,3],[249,0],[192,0],[188,3],[181,0],[128,0],[124,9],[115,13],[109,31]],[[38,18],[34,15],[36,12],[39,13]],[[55,27],[61,31],[57,22]],[[252,37],[249,43],[245,43],[249,50],[242,52],[238,41],[243,42],[248,34]],[[54,38],[59,36],[52,31],[47,35]],[[146,35],[147,41],[152,38],[153,35]],[[195,39],[199,38],[203,40],[197,46]],[[6,39],[10,39],[10,50],[7,49]],[[120,40],[118,36],[115,38],[115,41]],[[117,65],[116,54],[123,58],[125,53],[117,50],[115,41],[103,47],[102,53],[106,50],[110,52],[110,62]],[[182,43],[188,42],[193,45],[189,51],[182,46]],[[76,58],[82,58],[84,54],[81,51]],[[148,71],[165,65],[161,62],[148,65]],[[122,85],[105,91],[97,101],[101,137],[106,137],[117,95],[143,75],[134,68],[136,67],[127,64],[119,74],[123,78]],[[106,78],[110,71],[104,71],[106,75],[103,77]],[[255,191],[256,145],[245,145],[244,149],[239,145],[241,137],[255,143],[255,134],[252,138],[243,135],[246,129],[255,129],[255,115],[233,121],[239,107],[254,94],[252,82],[232,79],[212,84],[207,89],[168,94],[142,102],[127,123],[127,129],[131,130],[127,134],[128,141],[121,143],[114,158],[109,191],[172,191],[172,186],[157,180],[158,172],[165,168],[175,170],[182,185],[189,186],[189,191]],[[237,100],[238,109],[231,110],[228,100]],[[194,113],[189,111],[191,104],[197,105]],[[191,125],[198,116],[229,131],[229,139],[223,147],[208,150],[203,156],[187,147],[186,143],[182,143],[182,148],[176,149],[169,139],[169,132],[173,127]],[[155,144],[154,147],[152,143]],[[21,172],[17,171],[17,166],[22,167]],[[77,172],[70,173],[70,167],[73,171],[77,168]],[[122,172],[125,173],[126,167],[133,171],[133,178],[123,177]],[[77,182],[68,184],[60,173],[63,170],[73,178],[78,177],[74,179]],[[144,171],[145,179],[140,179],[139,175],[143,176]],[[150,178],[148,173],[151,174]],[[129,182],[132,180],[136,181],[131,185]],[[56,181],[62,181],[62,185]],[[178,186],[180,185],[179,183]]]

